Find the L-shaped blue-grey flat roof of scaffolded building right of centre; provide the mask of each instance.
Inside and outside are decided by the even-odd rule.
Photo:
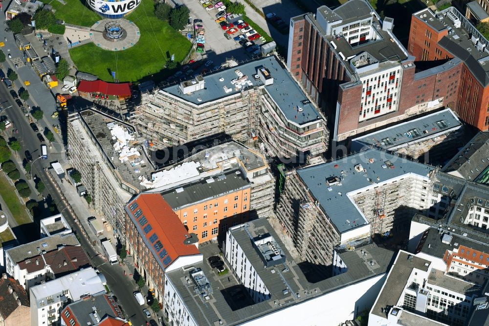
[[[387,161],[393,165],[387,167],[386,165],[389,165]],[[366,169],[366,172],[356,172],[355,165],[358,163]],[[299,169],[297,174],[338,231],[342,233],[367,223],[347,193],[367,186],[375,186],[407,173],[426,177],[432,169],[432,166],[413,162],[388,152],[368,149],[337,161]],[[331,177],[341,178],[341,183],[328,186],[326,180]]]

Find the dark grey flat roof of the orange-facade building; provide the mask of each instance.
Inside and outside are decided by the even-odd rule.
[[[240,170],[231,170],[218,176],[200,179],[161,193],[173,210],[195,204],[208,198],[220,196],[237,189],[251,187]],[[231,206],[232,203],[229,203]],[[229,208],[229,215],[232,214]]]

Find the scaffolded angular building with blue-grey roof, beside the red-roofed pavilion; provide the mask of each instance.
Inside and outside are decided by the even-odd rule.
[[[326,120],[275,56],[144,93],[132,118],[154,149],[226,134],[271,157],[319,158]]]

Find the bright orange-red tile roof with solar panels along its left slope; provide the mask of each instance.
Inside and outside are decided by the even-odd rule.
[[[138,207],[131,210],[131,206],[134,202],[137,203]],[[161,251],[157,252],[158,256],[155,258],[156,260],[161,261],[165,268],[179,256],[192,256],[200,254],[200,251],[195,244],[187,245],[183,243],[183,241],[187,237],[190,237],[190,235],[178,218],[177,214],[175,214],[161,194],[139,194],[133,202],[129,203],[127,208],[133,212],[133,216],[131,216],[131,218],[133,219],[134,224],[138,225],[138,220],[140,221],[143,216],[148,220],[148,224],[151,224],[152,230],[147,234],[144,232],[141,233],[141,236],[144,236],[147,241],[153,245],[153,249],[155,249],[154,244],[156,241],[152,242],[150,237],[153,234],[157,235],[158,240],[161,241],[161,244],[163,245],[163,249],[161,251],[166,250],[168,252],[168,256],[171,257],[170,262],[164,264],[163,261],[167,256],[160,257],[159,254]],[[139,209],[142,211],[142,215],[139,217],[134,217],[134,214]],[[145,226],[143,226],[142,229],[144,229]]]

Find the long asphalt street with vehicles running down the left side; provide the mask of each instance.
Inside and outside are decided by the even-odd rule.
[[[3,29],[1,31],[3,32]],[[3,38],[4,36],[2,35],[1,37]],[[15,51],[17,51],[18,53],[16,54],[19,54],[22,57],[22,53],[16,49],[12,34],[7,36],[6,46],[2,47],[1,49],[6,54],[9,53],[6,49],[10,49],[10,53],[16,53]],[[14,55],[12,55],[12,57],[14,57]],[[5,62],[2,66],[2,70],[5,73],[7,72],[7,67],[15,69],[9,62],[8,58],[7,62]],[[23,73],[22,70],[24,70]],[[22,80],[29,80],[31,82],[31,85],[26,87],[30,93],[30,99],[27,101],[27,104],[30,105],[31,108],[33,106],[40,105],[41,109],[44,111],[45,118],[37,123],[39,132],[44,134],[45,128],[48,126],[48,123],[51,122],[49,120],[51,119],[50,115],[56,108],[54,98],[31,68],[22,67],[19,68],[17,72],[20,77],[22,75],[26,75],[24,78],[29,78]],[[16,84],[17,87],[15,88],[15,91],[18,92],[19,88],[23,86],[22,81],[18,80],[16,81]],[[48,96],[48,98],[46,98],[46,96]],[[1,115],[8,116],[9,121],[13,123],[13,127],[9,128],[6,138],[8,140],[9,137],[15,137],[21,142],[22,150],[20,151],[19,156],[22,160],[25,158],[25,150],[29,150],[31,152],[33,157],[31,169],[32,176],[37,176],[40,178],[46,186],[43,196],[45,198],[49,198],[57,205],[58,210],[67,218],[71,228],[79,235],[80,243],[87,255],[89,255],[92,261],[92,266],[97,267],[99,271],[105,275],[109,288],[122,305],[127,318],[131,320],[134,326],[146,325],[147,319],[142,313],[143,307],[139,306],[133,297],[133,291],[137,289],[137,286],[132,278],[129,275],[124,275],[124,269],[121,266],[106,264],[105,260],[98,256],[98,253],[94,251],[92,246],[84,237],[83,233],[81,233],[79,230],[76,223],[74,223],[74,216],[72,216],[69,210],[66,209],[67,207],[63,203],[60,194],[47,177],[47,172],[44,168],[48,167],[50,162],[66,162],[67,158],[65,153],[65,145],[61,142],[53,142],[52,148],[49,148],[49,143],[46,140],[45,144],[48,146],[48,159],[43,160],[40,158],[41,142],[36,137],[36,133],[30,127],[27,117],[24,116],[22,110],[15,103],[4,83],[1,83],[0,86],[0,99],[0,111],[2,111]],[[55,123],[58,123],[58,121],[55,121]],[[15,133],[15,129],[17,129],[19,132]],[[80,198],[80,200],[82,199]],[[81,216],[80,218],[83,217],[84,216]],[[38,221],[35,222],[38,224]],[[39,227],[36,225],[35,228],[32,228],[32,230],[39,230]]]

